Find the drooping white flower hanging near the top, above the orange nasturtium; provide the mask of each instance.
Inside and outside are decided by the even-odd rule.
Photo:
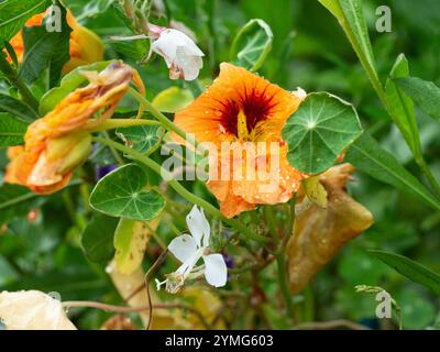
[[[148,31],[153,40],[151,50],[165,59],[170,79],[194,80],[198,77],[205,54],[188,35],[152,24]]]

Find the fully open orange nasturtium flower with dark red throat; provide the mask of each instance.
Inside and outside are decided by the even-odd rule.
[[[211,142],[221,154],[224,142],[233,148],[257,143],[273,143],[273,152],[255,148],[251,167],[271,167],[271,158],[277,158],[278,168],[271,170],[270,179],[276,179],[276,187],[271,191],[261,186],[268,183],[256,176],[237,178],[234,172],[249,167],[248,158],[228,153],[227,157],[218,155],[211,167],[228,169],[230,179],[219,176],[209,179],[209,190],[220,201],[220,210],[228,218],[242,211],[252,210],[256,205],[275,205],[288,201],[299,189],[305,177],[287,162],[287,145],[282,139],[286,120],[298,109],[302,97],[286,91],[266,79],[251,74],[244,68],[231,64],[221,64],[220,76],[189,107],[175,116],[174,122],[187,133],[193,133],[199,143]],[[224,153],[224,150],[223,150]],[[258,175],[256,173],[256,175]]]

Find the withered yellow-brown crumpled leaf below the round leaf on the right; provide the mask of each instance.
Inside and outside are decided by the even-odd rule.
[[[372,213],[346,193],[345,185],[353,173],[352,165],[342,164],[320,176],[328,194],[326,208],[314,202],[297,206],[294,233],[286,250],[293,293],[301,292],[345,242],[372,226]]]

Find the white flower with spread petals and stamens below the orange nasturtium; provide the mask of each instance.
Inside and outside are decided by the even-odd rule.
[[[197,278],[205,274],[208,284],[215,287],[222,287],[227,284],[228,268],[221,254],[211,254],[209,249],[209,238],[211,228],[205,217],[204,210],[196,206],[186,217],[189,234],[175,238],[168,245],[169,252],[183,264],[176,272],[166,275],[164,282],[156,279],[157,289],[165,285],[170,294],[177,293],[187,278]],[[205,265],[196,267],[202,258]]]

